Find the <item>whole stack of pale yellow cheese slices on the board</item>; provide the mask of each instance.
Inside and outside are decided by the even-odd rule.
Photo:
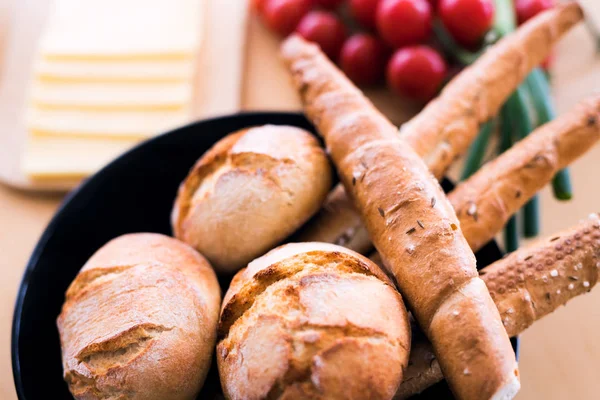
[[[33,69],[31,179],[81,179],[192,118],[204,0],[57,0]]]

